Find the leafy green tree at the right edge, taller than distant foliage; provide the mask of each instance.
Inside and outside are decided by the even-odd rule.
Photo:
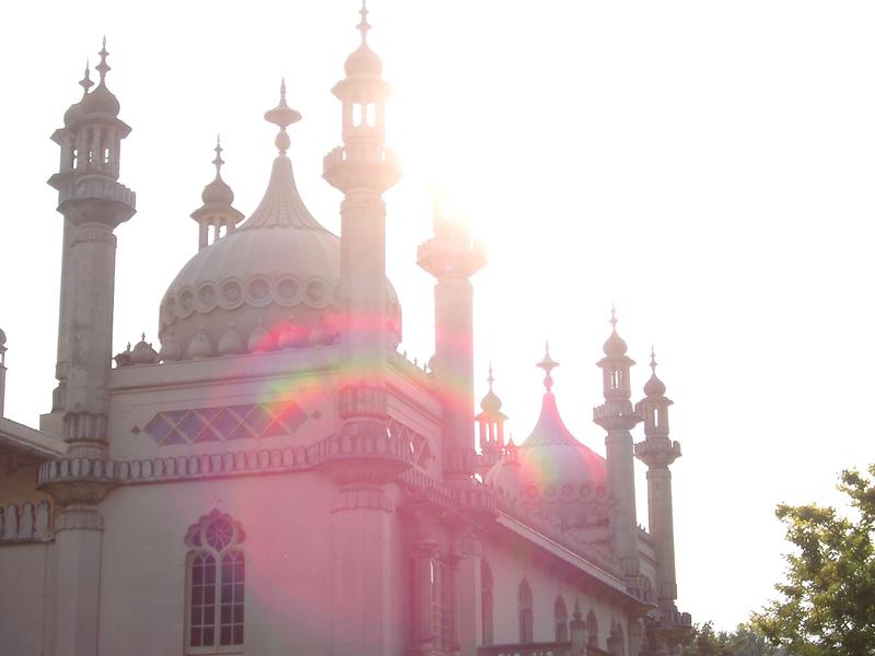
[[[794,656],[871,656],[875,654],[875,465],[868,476],[843,471],[838,489],[852,518],[815,504],[781,504],[775,515],[796,547],[786,555],[783,596],[754,626],[771,644]]]

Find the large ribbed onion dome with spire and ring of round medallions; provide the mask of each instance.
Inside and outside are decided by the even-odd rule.
[[[266,118],[280,125],[280,149],[265,196],[236,230],[202,248],[179,271],[161,302],[159,335],[183,360],[336,340],[340,312],[340,238],[316,221],[298,191],[285,155],[285,126],[300,115],[280,105]],[[384,285],[390,348],[401,338],[398,296]],[[233,348],[231,348],[233,345]],[[221,348],[220,348],[221,347]]]

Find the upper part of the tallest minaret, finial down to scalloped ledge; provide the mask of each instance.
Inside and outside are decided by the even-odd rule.
[[[347,77],[331,92],[342,104],[343,145],[325,155],[323,177],[343,192],[340,203],[340,278],[347,300],[342,337],[341,432],[385,433],[384,362],[390,348],[386,307],[386,203],[383,194],[400,178],[394,153],[384,148],[385,104],[390,94],[383,63],[368,45],[362,3],[361,44],[346,61]]]

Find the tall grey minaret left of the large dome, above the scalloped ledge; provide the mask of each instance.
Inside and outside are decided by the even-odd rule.
[[[68,112],[65,127],[52,134],[61,144],[61,167],[49,184],[58,189],[58,211],[70,233],[62,283],[67,336],[59,338],[67,353],[63,438],[70,457],[106,457],[113,231],[137,211],[135,194],[118,183],[121,140],[130,127],[118,119],[118,101],[106,87],[107,55],[104,39],[97,87],[86,93],[72,116]]]

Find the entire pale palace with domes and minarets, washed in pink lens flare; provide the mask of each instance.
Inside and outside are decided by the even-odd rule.
[[[260,204],[245,220],[233,207],[217,144],[160,348],[143,338],[114,358],[114,230],[136,212],[119,183],[130,127],[105,44],[96,86],[86,70],[52,134],[65,238],[58,384],[39,429],[2,417],[0,332],[0,654],[677,653],[690,625],[676,606],[680,448],[655,362],[632,405],[616,318],[594,410],[606,457],[562,422],[549,350],[524,442],[504,436],[491,371],[475,415],[470,278],[486,256],[440,211],[417,254],[436,281],[434,356],[421,367],[397,351],[382,196],[400,168],[361,13],[332,89],[340,145],[323,162],[343,196],[340,236],[295,186],[287,130],[301,115],[283,85],[265,115],[278,154]]]

